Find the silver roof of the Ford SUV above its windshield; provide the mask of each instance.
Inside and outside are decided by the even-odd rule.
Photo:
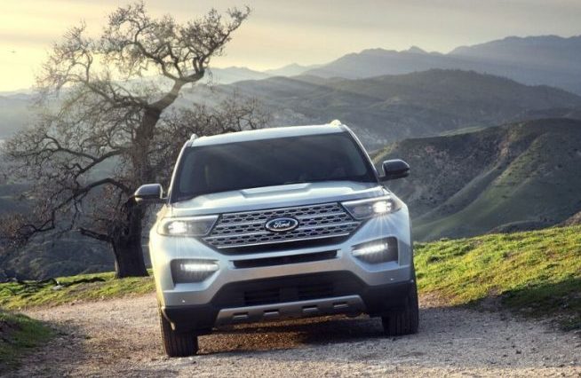
[[[229,132],[190,139],[186,146],[211,146],[226,143],[245,142],[249,140],[301,137],[305,135],[338,134],[348,131],[348,128],[340,122],[331,122],[323,125],[311,126],[284,126],[259,130],[245,130]]]

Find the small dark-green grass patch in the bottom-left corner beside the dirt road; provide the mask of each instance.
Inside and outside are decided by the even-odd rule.
[[[20,357],[51,339],[44,323],[21,314],[0,311],[0,373],[18,366]]]

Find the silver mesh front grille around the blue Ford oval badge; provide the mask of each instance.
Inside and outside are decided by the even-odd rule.
[[[294,217],[298,227],[288,232],[270,232],[267,221]],[[286,243],[298,240],[337,238],[350,235],[361,224],[337,202],[223,214],[203,238],[215,248],[239,248]]]

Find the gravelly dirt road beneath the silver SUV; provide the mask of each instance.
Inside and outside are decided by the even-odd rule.
[[[421,304],[418,335],[386,338],[378,319],[308,319],[200,338],[165,358],[155,297],[28,311],[63,330],[16,376],[581,376],[581,337],[497,312]]]

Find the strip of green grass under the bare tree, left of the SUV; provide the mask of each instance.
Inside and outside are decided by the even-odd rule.
[[[141,295],[155,290],[154,280],[151,276],[115,280],[114,275],[113,272],[107,272],[61,277],[57,280],[64,285],[76,280],[93,278],[99,278],[103,281],[72,284],[59,290],[55,290],[52,283],[41,287],[27,287],[12,282],[0,284],[0,308],[21,310],[36,306],[56,306],[76,301],[96,301],[125,295]]]

